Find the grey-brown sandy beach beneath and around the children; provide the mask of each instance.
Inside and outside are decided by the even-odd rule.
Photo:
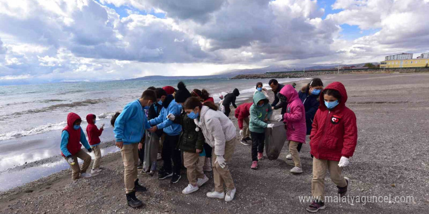
[[[351,178],[349,196],[388,196],[391,201],[327,203],[327,208],[319,213],[426,213],[429,74],[338,74],[320,78],[325,86],[333,81],[346,86],[346,105],[357,117],[356,151],[350,166],[343,171]],[[307,80],[296,82],[296,89],[306,83]],[[272,92],[269,94],[273,96]],[[234,112],[230,118],[237,125]],[[148,191],[137,193],[145,206],[133,209],[126,205],[123,164],[116,152],[103,157],[106,169],[93,178],[73,182],[71,170],[67,169],[0,193],[0,214],[307,213],[309,202],[301,202],[299,197],[311,196],[312,158],[308,142],[300,153],[304,173],[292,175],[289,170],[293,163],[286,159],[286,146],[277,160],[259,161],[258,170],[252,170],[251,146],[240,144],[238,136],[237,128],[233,161],[228,163],[237,193],[229,203],[205,196],[214,189],[212,173],[206,173],[210,180],[200,190],[183,195],[181,191],[188,182],[186,171],[182,170],[181,180],[173,185],[169,179],[158,180],[157,174],[139,174],[140,183]],[[335,193],[336,187],[327,176],[326,195]],[[395,197],[401,196],[412,196],[413,200],[395,201]]]

